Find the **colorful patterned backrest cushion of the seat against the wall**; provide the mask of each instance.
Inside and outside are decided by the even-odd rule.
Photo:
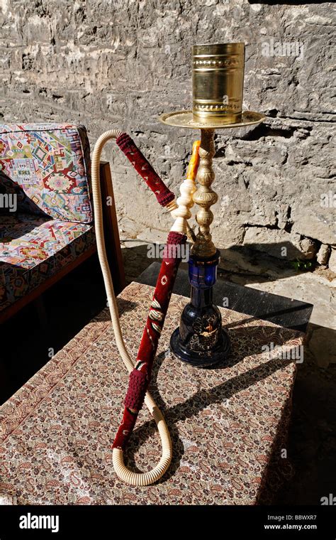
[[[29,212],[90,223],[89,154],[84,126],[0,124],[0,170],[26,193]]]

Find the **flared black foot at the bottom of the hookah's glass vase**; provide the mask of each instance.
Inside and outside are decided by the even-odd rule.
[[[174,330],[170,338],[170,348],[177,358],[195,367],[213,367],[225,363],[230,355],[231,344],[228,333],[224,328],[220,330],[219,339],[215,347],[208,351],[191,350],[183,345],[179,333],[179,327]]]

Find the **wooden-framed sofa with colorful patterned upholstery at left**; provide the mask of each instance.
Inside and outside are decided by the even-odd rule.
[[[108,163],[101,165],[101,185],[103,196],[111,195]],[[121,290],[116,208],[104,206],[109,258]],[[0,124],[0,322],[95,252],[85,127]]]

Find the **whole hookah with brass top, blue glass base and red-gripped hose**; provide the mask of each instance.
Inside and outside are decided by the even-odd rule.
[[[264,119],[264,115],[257,112],[242,112],[244,43],[193,45],[192,62],[193,110],[166,113],[159,118],[162,123],[169,126],[201,129],[201,141],[194,142],[186,179],[180,185],[181,195],[176,201],[174,193],[164,185],[130,136],[118,129],[106,131],[99,137],[91,162],[99,262],[116,345],[130,374],[123,419],[112,446],[113,467],[123,482],[137,486],[150,485],[159,480],[172,461],[172,441],[167,424],[147,388],[187,237],[191,242],[191,257],[189,257],[191,301],[181,314],[179,328],[172,334],[170,341],[172,352],[179,360],[196,367],[214,366],[225,361],[230,352],[228,333],[222,328],[220,311],[212,302],[213,285],[220,261],[220,252],[215,248],[210,233],[213,221],[210,207],[218,200],[218,195],[211,189],[215,178],[212,167],[215,154],[214,134],[215,129],[250,126],[259,124]],[[159,204],[171,212],[174,218],[136,360],[130,357],[123,340],[103,236],[99,163],[103,146],[110,139],[116,140],[117,146],[155,193]],[[191,217],[190,208],[194,204],[199,207],[196,214],[198,224],[196,235],[188,222]],[[144,402],[157,425],[162,455],[152,470],[134,473],[125,466],[123,453]]]

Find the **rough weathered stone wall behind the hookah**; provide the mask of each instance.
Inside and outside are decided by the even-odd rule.
[[[244,107],[267,121],[216,135],[213,238],[321,264],[331,252],[336,271],[332,3],[271,4],[0,0],[0,121],[80,122],[91,144],[119,126],[177,193],[195,133],[157,117],[191,107],[192,43],[245,41]],[[106,158],[123,234],[167,230],[123,154]]]

